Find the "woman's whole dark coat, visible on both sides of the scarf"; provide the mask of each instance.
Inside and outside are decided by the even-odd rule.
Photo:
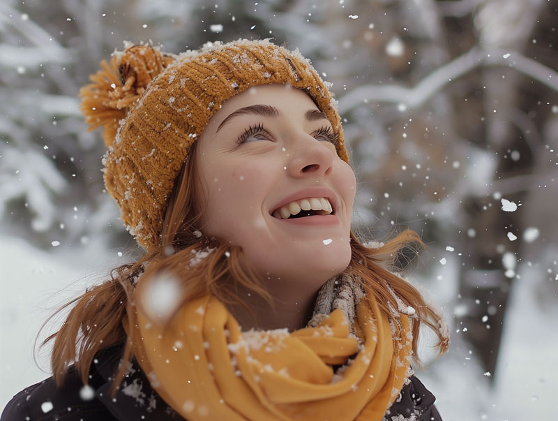
[[[80,397],[83,383],[71,368],[60,388],[51,377],[16,394],[4,409],[0,421],[183,420],[158,396],[136,364],[132,364],[121,387],[114,397],[111,396],[111,379],[118,368],[121,350],[121,347],[107,348],[97,355],[89,372],[89,385],[95,393],[91,397],[84,396],[91,399]],[[441,421],[432,393],[418,378],[412,376],[409,380],[384,420]]]

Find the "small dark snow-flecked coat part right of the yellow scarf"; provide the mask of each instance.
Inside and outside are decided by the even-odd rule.
[[[436,398],[415,376],[407,379],[383,421],[442,421]]]

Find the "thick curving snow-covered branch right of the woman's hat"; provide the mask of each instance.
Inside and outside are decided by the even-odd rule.
[[[480,66],[506,66],[558,91],[558,73],[551,68],[529,59],[519,52],[505,50],[482,50],[474,47],[448,64],[437,68],[415,87],[407,88],[395,84],[365,85],[353,89],[339,100],[341,114],[352,110],[363,101],[375,103],[397,103],[408,108],[423,105],[455,79]]]

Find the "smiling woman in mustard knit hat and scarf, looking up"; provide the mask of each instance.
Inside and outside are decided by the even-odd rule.
[[[442,320],[351,232],[328,86],[268,40],[116,53],[80,92],[145,256],[75,300],[53,377],[1,420],[439,420],[412,376]],[[69,305],[69,304],[68,304]],[[47,339],[47,340],[49,340]]]

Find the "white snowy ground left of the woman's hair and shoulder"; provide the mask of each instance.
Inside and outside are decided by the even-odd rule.
[[[51,254],[22,239],[0,236],[1,408],[23,387],[50,375],[47,349],[37,355],[40,368],[33,358],[40,327],[61,304],[105,278],[107,263],[119,265],[106,251]],[[49,323],[39,338],[45,339],[53,330],[54,324]]]

